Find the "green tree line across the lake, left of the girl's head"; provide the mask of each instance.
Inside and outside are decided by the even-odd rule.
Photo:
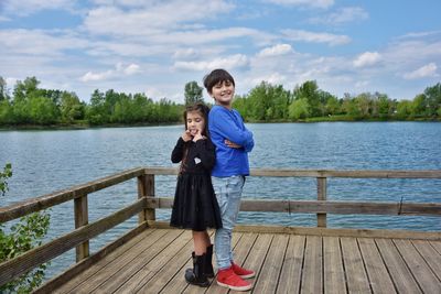
[[[144,94],[96,89],[88,104],[72,91],[42,89],[35,77],[17,81],[9,95],[0,77],[0,124],[135,124],[179,121],[183,106],[166,98],[153,101]]]

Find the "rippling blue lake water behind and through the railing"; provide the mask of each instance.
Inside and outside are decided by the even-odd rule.
[[[256,146],[251,167],[329,170],[441,170],[441,123],[332,122],[248,124]],[[64,189],[137,166],[173,166],[170,153],[182,126],[69,131],[0,131],[0,166],[11,162],[10,192],[0,206]],[[157,177],[157,195],[172,196],[173,176]],[[330,200],[441,203],[441,179],[327,182]],[[249,177],[245,198],[315,199],[315,178]],[[137,198],[135,179],[89,196],[89,220]],[[51,210],[49,239],[74,228],[73,203]],[[170,211],[159,211],[168,219]],[[314,215],[240,213],[239,222],[315,226]],[[95,252],[137,217],[92,240]],[[435,217],[329,216],[329,227],[441,230]],[[74,250],[52,261],[47,276],[74,262]]]

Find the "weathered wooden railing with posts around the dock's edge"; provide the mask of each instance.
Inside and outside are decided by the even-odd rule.
[[[0,263],[0,285],[19,277],[29,270],[45,263],[53,258],[76,248],[76,260],[87,268],[116,247],[127,242],[149,226],[154,226],[155,209],[171,208],[172,197],[155,197],[154,176],[176,175],[178,170],[171,167],[139,167],[111,176],[107,176],[72,188],[32,198],[8,207],[0,208],[0,222],[10,221],[22,216],[46,209],[65,202],[74,200],[75,230],[56,238],[39,248],[23,253],[12,260]],[[316,214],[318,227],[326,227],[326,214],[368,214],[368,215],[426,215],[441,216],[440,203],[363,203],[330,202],[326,199],[326,179],[330,177],[352,178],[441,178],[441,171],[312,171],[312,170],[251,170],[251,176],[265,177],[315,177],[318,200],[243,200],[241,211],[273,213],[310,213]],[[88,195],[97,190],[138,178],[138,200],[88,224]],[[174,179],[173,179],[174,181]],[[125,236],[89,257],[89,240],[106,230],[123,222],[138,214],[139,226]],[[321,233],[323,231],[321,230]],[[418,236],[423,236],[423,232]],[[434,232],[429,238],[440,239]],[[79,269],[78,269],[79,271]]]

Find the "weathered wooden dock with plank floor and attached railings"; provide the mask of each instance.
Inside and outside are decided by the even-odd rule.
[[[0,207],[0,224],[65,202],[74,202],[75,230],[0,263],[0,285],[76,248],[76,264],[35,293],[227,293],[184,281],[191,268],[191,231],[155,219],[172,198],[155,195],[155,175],[175,168],[139,167],[41,197]],[[441,216],[440,203],[333,202],[329,177],[441,178],[441,171],[251,170],[251,176],[316,177],[316,200],[250,199],[240,210],[306,213],[316,227],[237,226],[236,262],[257,272],[252,293],[441,293],[441,232],[387,229],[331,229],[327,214]],[[97,190],[138,178],[138,199],[95,222],[87,199]],[[174,181],[174,179],[173,179]],[[90,254],[89,240],[138,215],[135,229]],[[212,232],[213,235],[213,232]],[[213,238],[213,236],[212,236]]]

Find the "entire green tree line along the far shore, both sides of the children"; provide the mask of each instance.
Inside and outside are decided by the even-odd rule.
[[[12,94],[0,76],[0,126],[137,124],[172,123],[182,120],[184,105],[203,99],[203,88],[189,81],[184,105],[166,98],[153,101],[146,94],[96,89],[88,104],[75,92],[42,89],[35,77],[17,81]],[[315,80],[293,90],[261,81],[233,102],[246,121],[314,120],[440,120],[441,84],[426,88],[412,100],[397,100],[380,92],[345,94],[338,98],[319,88]]]

